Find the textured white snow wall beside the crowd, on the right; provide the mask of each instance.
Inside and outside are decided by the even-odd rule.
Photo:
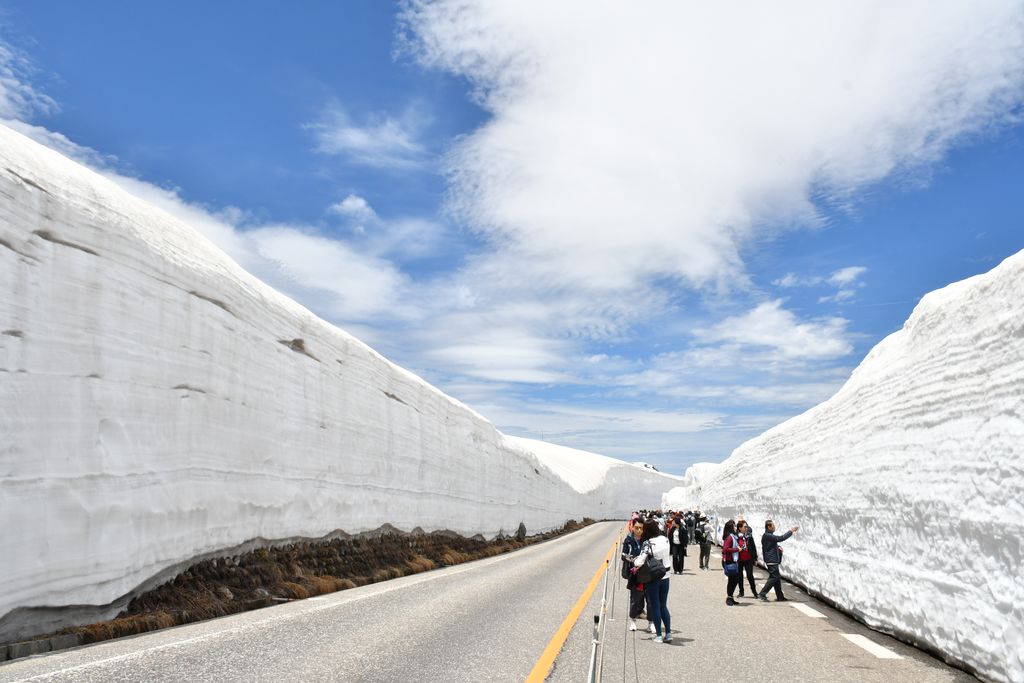
[[[1024,252],[932,292],[825,402],[736,449],[702,509],[801,526],[784,574],[1024,681]]]

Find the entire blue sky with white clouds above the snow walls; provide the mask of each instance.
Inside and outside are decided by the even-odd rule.
[[[681,472],[1024,248],[1019,3],[0,0],[0,117],[503,430]]]

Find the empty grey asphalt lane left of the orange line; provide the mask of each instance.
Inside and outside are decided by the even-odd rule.
[[[0,666],[0,682],[521,681],[622,527],[595,524],[499,557],[17,659]]]

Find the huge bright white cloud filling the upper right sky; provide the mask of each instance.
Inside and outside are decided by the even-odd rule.
[[[579,287],[742,282],[749,240],[938,159],[1021,98],[1020,3],[407,3],[492,119],[453,208]]]

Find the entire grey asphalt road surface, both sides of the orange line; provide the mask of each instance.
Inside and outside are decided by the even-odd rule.
[[[620,522],[496,558],[0,666],[5,681],[522,681],[620,539]],[[975,681],[786,585],[788,603],[725,605],[717,556],[671,577],[675,641],[627,631],[612,566],[602,681]],[[764,574],[759,572],[758,585]],[[587,680],[603,582],[549,680]],[[750,594],[748,594],[750,595]],[[808,611],[810,610],[810,611]],[[818,614],[818,615],[815,615]],[[641,622],[641,625],[645,625]],[[884,650],[863,649],[844,634]],[[885,653],[888,652],[888,655]],[[884,656],[899,658],[880,658]]]

